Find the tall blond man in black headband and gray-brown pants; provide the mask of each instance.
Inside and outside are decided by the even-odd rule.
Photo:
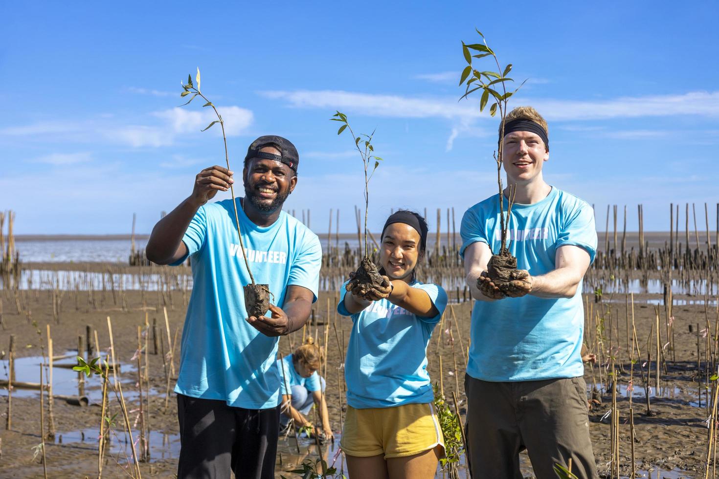
[[[569,460],[577,477],[597,478],[581,355],[594,213],[544,181],[549,129],[534,108],[510,111],[500,141],[508,185],[516,185],[508,247],[521,271],[506,294],[487,275],[500,251],[498,195],[467,210],[460,254],[476,299],[464,380],[470,470],[475,478],[521,478],[526,448],[539,479],[556,478],[554,465]]]

